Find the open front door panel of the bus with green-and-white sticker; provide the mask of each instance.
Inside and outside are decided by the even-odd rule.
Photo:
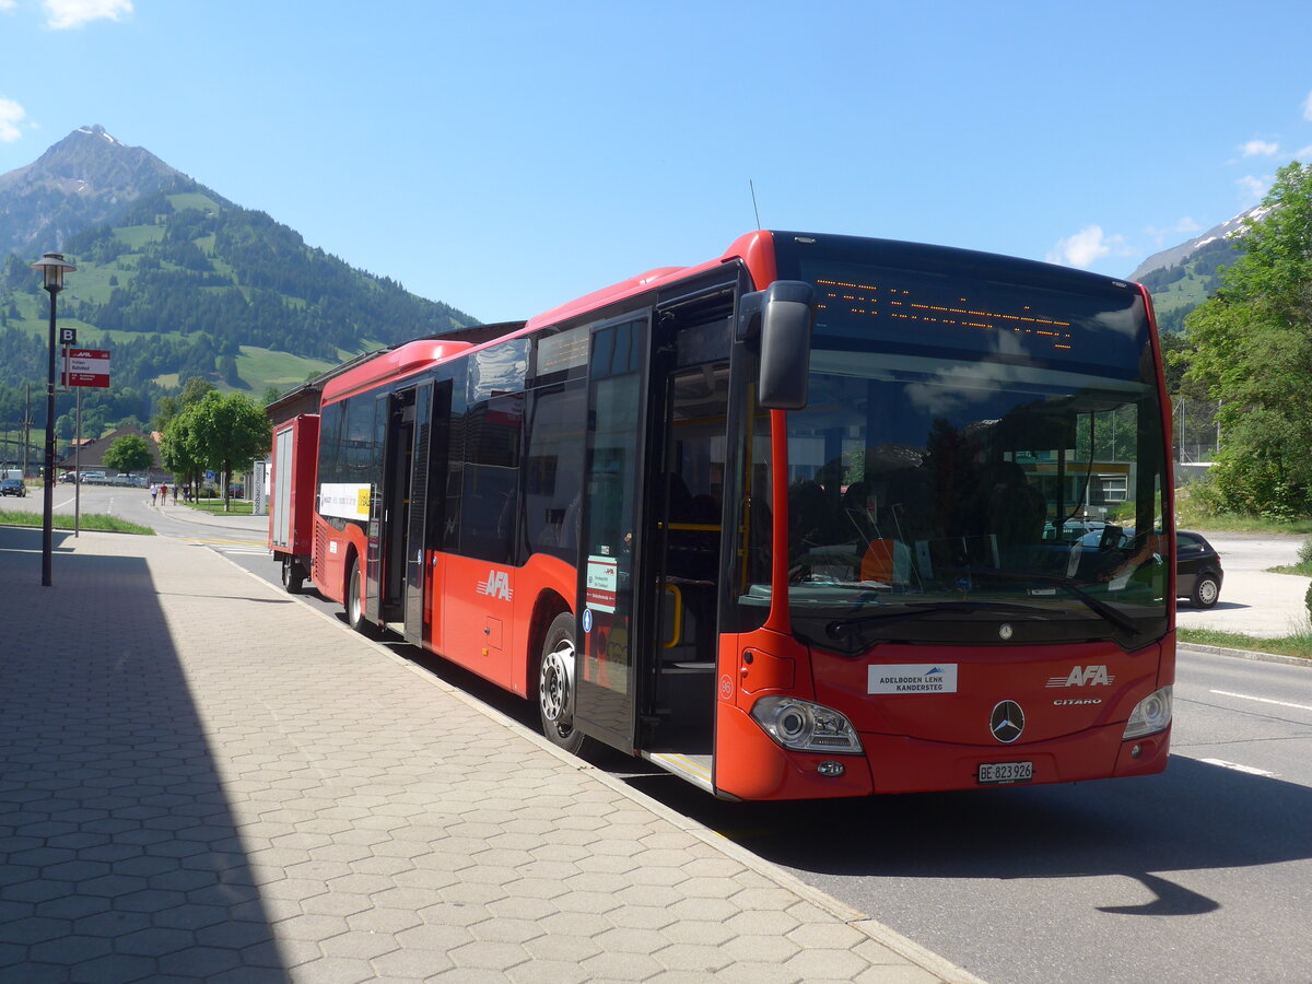
[[[580,509],[575,727],[636,749],[636,687],[652,635],[644,575],[651,315],[593,329]]]

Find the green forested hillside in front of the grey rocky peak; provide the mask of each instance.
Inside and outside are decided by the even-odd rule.
[[[113,353],[113,388],[84,391],[84,412],[110,422],[148,420],[190,377],[260,396],[361,352],[476,324],[181,176],[63,252],[77,270],[59,295],[59,324],[77,329],[79,346]],[[0,426],[22,419],[25,384],[45,388],[49,297],[30,262],[0,266]]]

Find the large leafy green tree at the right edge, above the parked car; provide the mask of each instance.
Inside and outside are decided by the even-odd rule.
[[[1214,468],[1223,506],[1312,514],[1312,165],[1288,164],[1245,223],[1244,256],[1186,319],[1186,383],[1220,400]]]

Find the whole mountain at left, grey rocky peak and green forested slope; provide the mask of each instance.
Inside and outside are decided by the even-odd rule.
[[[0,174],[0,432],[22,419],[24,384],[45,386],[49,298],[30,264],[50,249],[77,266],[59,295],[60,325],[77,329],[79,346],[113,353],[113,388],[83,394],[84,416],[100,409],[106,424],[148,420],[193,375],[261,395],[382,345],[478,324],[104,127],[81,127]]]

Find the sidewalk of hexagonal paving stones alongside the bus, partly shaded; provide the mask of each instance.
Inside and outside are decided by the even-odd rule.
[[[213,551],[0,529],[0,984],[975,981]]]

